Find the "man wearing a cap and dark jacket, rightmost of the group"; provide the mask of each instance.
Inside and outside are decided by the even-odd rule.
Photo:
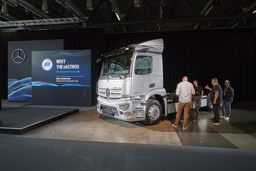
[[[221,105],[222,117],[225,120],[229,120],[231,114],[231,102],[233,102],[234,90],[230,86],[229,81],[225,81],[225,87],[223,90],[223,102]]]

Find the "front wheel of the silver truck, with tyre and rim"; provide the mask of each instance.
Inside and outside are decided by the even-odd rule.
[[[158,124],[162,118],[163,108],[159,101],[149,99],[145,113],[145,124],[154,125]]]

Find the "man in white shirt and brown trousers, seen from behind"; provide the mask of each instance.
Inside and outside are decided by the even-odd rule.
[[[189,119],[189,108],[191,106],[192,94],[195,94],[193,85],[189,83],[187,77],[183,77],[182,82],[177,85],[176,94],[179,96],[178,109],[173,127],[177,128],[181,118],[181,112],[184,110],[183,130],[187,129]]]

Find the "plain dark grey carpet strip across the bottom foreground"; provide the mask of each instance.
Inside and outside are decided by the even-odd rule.
[[[256,150],[0,136],[0,170],[255,170]]]

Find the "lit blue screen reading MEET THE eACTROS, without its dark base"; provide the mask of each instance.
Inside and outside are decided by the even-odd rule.
[[[32,52],[32,86],[91,86],[91,50]]]

